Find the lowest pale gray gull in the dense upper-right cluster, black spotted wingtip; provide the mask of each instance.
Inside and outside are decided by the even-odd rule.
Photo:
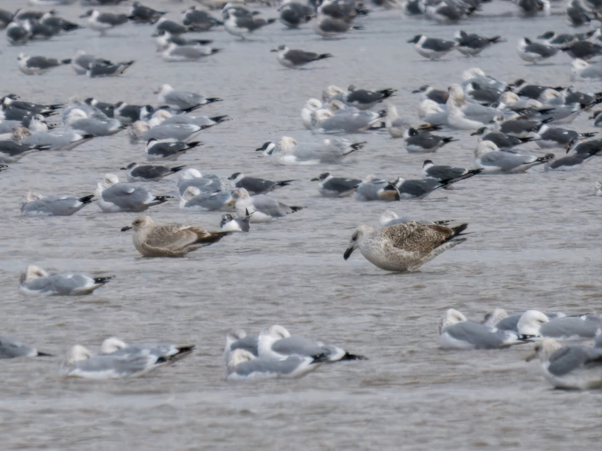
[[[476,151],[477,167],[482,174],[519,174],[533,166],[544,164],[554,159],[553,153],[544,156],[521,155],[520,153],[499,150],[491,141],[483,141]]]

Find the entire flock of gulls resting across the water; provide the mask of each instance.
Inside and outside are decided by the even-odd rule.
[[[31,3],[79,7],[72,5],[75,0],[32,0]],[[9,44],[28,45],[33,50],[35,47],[31,44],[36,40],[77,33],[84,27],[98,31],[98,39],[102,40],[114,28],[134,22],[140,24],[141,32],[151,34],[152,28],[157,50],[166,63],[194,63],[219,58],[223,51],[211,46],[212,40],[199,38],[199,32],[225,29],[235,38],[245,40],[253,34],[261,34],[261,28],[279,20],[286,28],[309,26],[326,39],[344,38],[347,33],[361,34],[361,17],[371,11],[356,0],[309,0],[307,3],[293,0],[278,5],[274,11],[278,18],[265,19],[240,3],[207,0],[205,8],[190,7],[176,19],[176,14],[154,10],[140,2],[134,2],[128,13],[114,13],[113,9],[106,8],[119,4],[119,0],[81,0],[79,3],[84,8],[78,23],[64,19],[55,10],[0,10],[0,26],[5,28]],[[530,17],[545,16],[551,9],[548,0],[516,0],[514,3],[515,14],[524,16],[527,21]],[[221,13],[213,13],[209,8],[221,8]],[[471,16],[485,10],[487,3],[480,0],[374,0],[371,8],[403,11],[417,20],[424,16],[426,20],[445,24],[466,22],[468,29]],[[399,139],[409,153],[429,154],[422,166],[422,179],[396,177],[391,180],[376,174],[335,176],[330,173],[321,173],[312,179],[318,182],[318,191],[324,197],[354,196],[361,202],[423,198],[458,182],[468,186],[471,177],[510,176],[537,165],[543,165],[546,171],[580,167],[590,158],[602,156],[602,138],[598,137],[602,127],[602,93],[599,92],[602,4],[600,0],[571,0],[562,13],[571,25],[585,27],[584,31],[575,34],[550,31],[538,37],[522,37],[518,40],[518,57],[538,64],[557,54],[566,54],[572,60],[570,69],[564,65],[559,66],[559,70],[570,70],[573,79],[591,82],[591,92],[580,92],[572,86],[544,86],[524,79],[499,81],[474,67],[448,87],[416,87],[415,93],[421,99],[418,117],[402,117],[391,103],[397,92],[395,88],[371,90],[355,85],[348,88],[330,85],[315,98],[308,99],[300,115],[300,124],[306,129],[327,137],[298,142],[283,136],[278,141],[262,144],[256,152],[276,165],[337,164],[367,145],[366,141],[347,135],[388,132],[391,138]],[[482,51],[495,52],[495,44],[511,39],[514,37],[485,37],[459,31],[453,40],[420,34],[408,43],[414,44],[421,57],[439,60],[452,58],[451,52],[455,50],[464,55],[462,58],[476,57]],[[491,50],[486,50],[490,47]],[[286,45],[272,51],[276,52],[275,63],[278,61],[288,69],[327,64],[329,58],[336,58],[336,55]],[[85,51],[63,59],[24,52],[17,58],[17,67],[25,75],[43,75],[59,66],[72,67],[75,75],[99,78],[122,76],[135,67],[135,61],[114,62]],[[212,127],[219,127],[230,118],[227,115],[206,117],[198,112],[204,105],[222,102],[217,97],[168,84],[159,86],[156,94],[155,106],[150,104],[152,102],[130,105],[96,98],[44,105],[34,99],[22,100],[19,93],[2,97],[0,170],[18,171],[19,165],[26,164],[27,158],[20,161],[25,156],[35,158],[39,152],[70,150],[91,140],[101,142],[102,137],[116,133],[127,135],[132,146],[140,148],[141,157],[157,163],[124,163],[124,167],[116,170],[125,171],[126,181],[116,174],[104,174],[93,194],[92,190],[86,195],[29,192],[21,207],[22,214],[69,216],[92,208],[92,204],[104,213],[144,212],[176,197],[185,210],[223,212],[219,230],[155,223],[148,215],[138,216],[122,229],[133,229],[134,248],[144,257],[181,257],[232,233],[252,232],[250,224],[285,218],[303,208],[284,204],[270,194],[291,183],[300,183],[292,178],[266,180],[233,172],[228,179],[223,179],[197,168],[170,165],[168,162],[175,161],[184,152],[195,152],[202,146],[198,140],[200,133],[210,133]],[[223,105],[227,108],[227,102]],[[580,114],[591,119],[587,130],[565,128]],[[474,161],[467,167],[433,162],[433,153],[455,141],[453,137],[435,133],[441,128],[459,130],[465,135],[462,141],[466,140],[467,147],[474,146]],[[535,143],[541,148],[541,154],[531,155],[520,150],[525,143]],[[549,152],[551,149],[562,156],[556,158]],[[172,174],[178,179],[173,192],[156,192],[154,182]],[[601,182],[593,194],[602,196]],[[368,262],[385,271],[414,271],[467,240],[468,224],[450,222],[399,218],[396,213],[388,212],[382,216],[380,228],[359,225],[343,256],[347,260],[354,250],[359,250]],[[29,265],[21,275],[19,291],[25,295],[86,295],[110,279],[73,272],[51,273]],[[566,316],[535,310],[508,314],[495,309],[482,322],[474,322],[450,309],[439,326],[439,338],[442,348],[452,349],[505,348],[535,342],[544,376],[554,387],[602,385],[602,318],[594,314]],[[594,345],[559,341],[575,338],[594,340]],[[84,346],[73,346],[61,365],[61,374],[84,378],[142,375],[185,357],[193,349],[193,344],[126,344],[111,337],[96,353]],[[49,357],[49,354],[17,339],[0,337],[0,358],[22,356]],[[247,335],[243,330],[231,331],[226,337],[225,360],[227,379],[237,380],[296,378],[323,363],[365,360],[365,357],[350,354],[336,345],[291,335],[284,327],[272,325],[261,330],[258,336]]]

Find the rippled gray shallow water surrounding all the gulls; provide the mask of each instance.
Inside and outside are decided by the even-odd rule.
[[[179,17],[187,4],[144,2]],[[0,1],[0,7],[25,1]],[[561,6],[555,5],[554,11]],[[58,11],[73,20],[79,5]],[[129,7],[112,7],[126,12]],[[393,103],[415,117],[424,83],[445,88],[470,67],[504,81],[570,81],[570,58],[546,66],[523,64],[520,37],[548,29],[572,31],[565,16],[521,19],[507,2],[486,4],[461,25],[433,25],[376,11],[360,20],[364,31],[322,40],[305,26],[279,23],[240,41],[223,29],[200,34],[223,51],[201,63],[164,63],[151,26],[125,25],[99,37],[83,29],[23,48],[0,34],[2,91],[39,102],[73,96],[152,103],[160,84],[198,90],[223,102],[203,108],[232,120],[201,133],[205,143],[175,164],[222,176],[244,172],[272,180],[296,179],[271,195],[305,206],[247,235],[227,236],[182,259],[144,259],[131,235],[119,229],[136,213],[101,213],[92,205],[70,217],[25,218],[20,199],[28,189],[86,194],[106,172],[144,161],[143,144],[126,132],[96,138],[69,152],[28,155],[0,174],[2,334],[57,355],[75,343],[95,349],[107,336],[126,341],[197,343],[197,351],[172,367],[138,379],[78,381],[58,377],[58,359],[4,360],[0,379],[2,448],[51,449],[594,449],[602,438],[600,391],[558,391],[524,362],[531,347],[504,351],[443,351],[436,324],[454,307],[471,319],[494,307],[566,313],[600,311],[600,158],[567,171],[536,167],[515,176],[482,176],[436,191],[423,200],[359,203],[318,195],[309,179],[379,173],[419,177],[425,158],[470,166],[476,145],[467,132],[444,130],[460,141],[435,155],[409,154],[386,133],[351,137],[367,146],[338,165],[284,167],[253,152],[264,141],[291,135],[312,140],[299,111],[329,84],[399,90]],[[273,17],[272,9],[262,8]],[[510,11],[512,14],[506,14]],[[406,41],[418,34],[452,38],[458,29],[500,34],[506,43],[468,59],[450,54],[426,61]],[[311,69],[287,70],[269,50],[281,43],[334,55]],[[119,78],[88,79],[70,67],[43,76],[17,70],[16,55],[67,58],[76,49],[110,60],[135,60]],[[585,91],[595,82],[574,82]],[[591,130],[580,115],[569,127]],[[533,144],[526,151],[541,152]],[[554,149],[560,156],[563,150]],[[123,176],[123,171],[122,174]],[[175,177],[155,194],[175,195]],[[343,252],[356,225],[376,224],[392,209],[418,218],[469,223],[467,242],[420,271],[389,274],[361,254]],[[151,207],[155,222],[217,227],[222,213],[189,213],[176,201]],[[52,270],[116,275],[84,297],[26,298],[20,272],[36,264]],[[231,384],[224,380],[226,331],[258,332],[282,324],[294,333],[344,345],[368,361],[322,366],[305,378]]]

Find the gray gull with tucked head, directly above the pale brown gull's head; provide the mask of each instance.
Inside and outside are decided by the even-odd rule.
[[[156,196],[135,183],[120,183],[115,174],[105,174],[96,186],[95,194],[98,198],[96,204],[104,213],[141,212],[173,198]]]

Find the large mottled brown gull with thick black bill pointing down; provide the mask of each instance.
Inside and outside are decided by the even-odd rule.
[[[349,259],[359,248],[365,259],[380,269],[414,271],[443,251],[465,241],[466,238],[458,236],[467,227],[468,224],[445,227],[407,222],[375,230],[368,225],[360,225],[353,233],[343,258]]]

